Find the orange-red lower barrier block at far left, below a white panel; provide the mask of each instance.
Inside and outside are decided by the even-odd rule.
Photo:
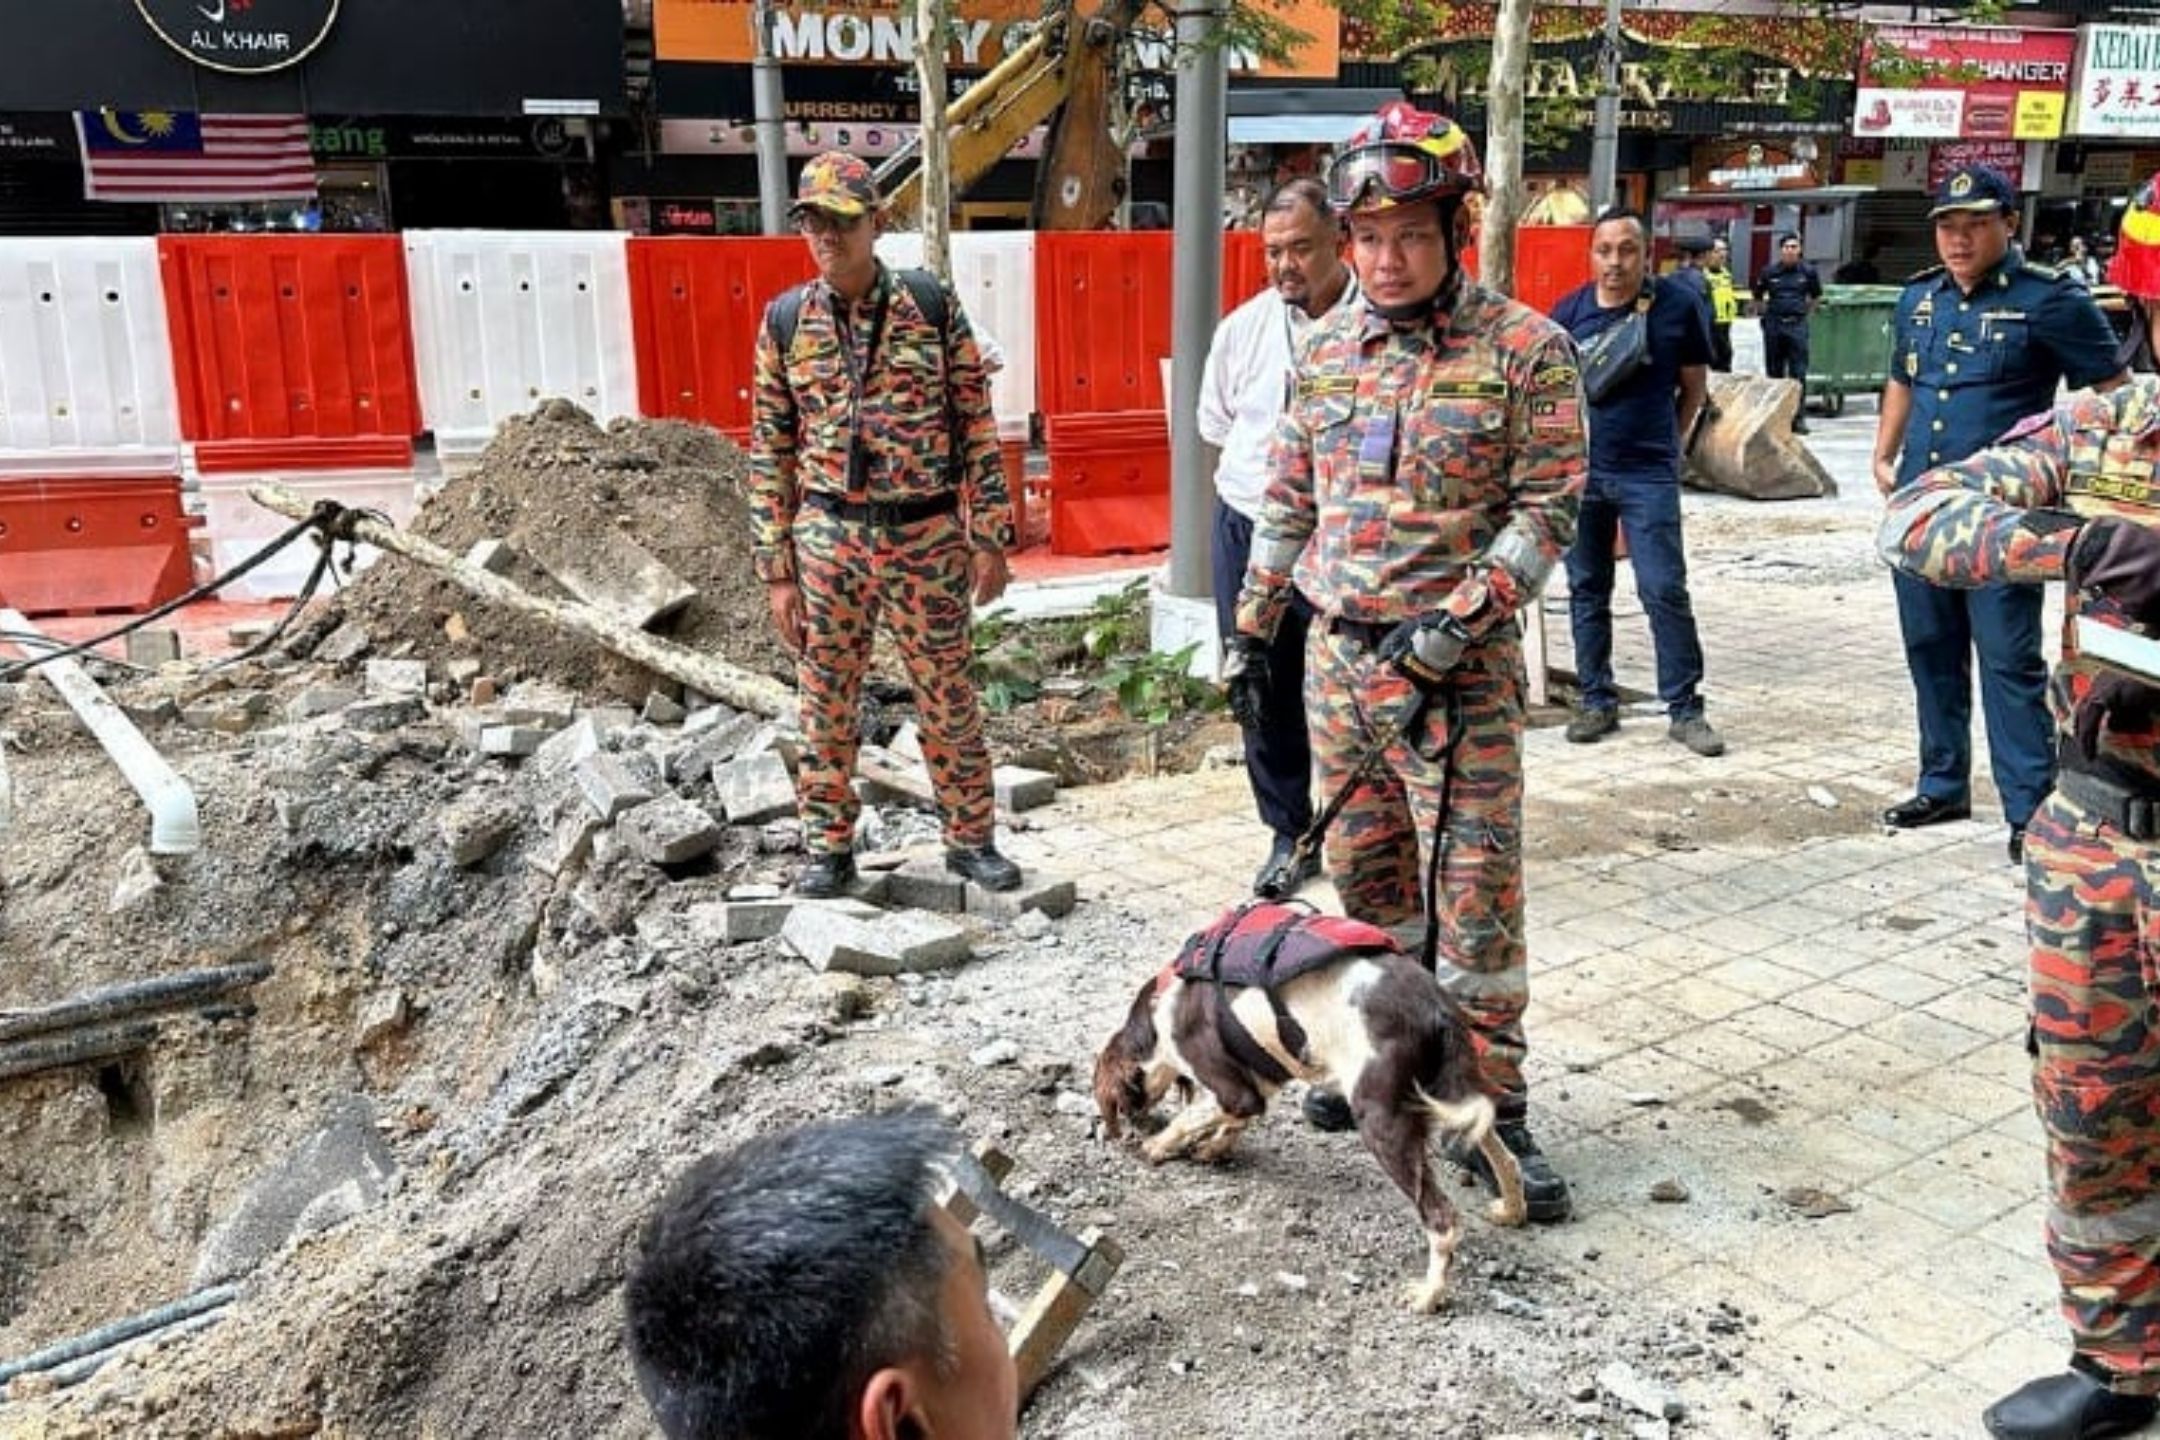
[[[0,600],[24,615],[147,611],[192,581],[179,475],[0,481]]]

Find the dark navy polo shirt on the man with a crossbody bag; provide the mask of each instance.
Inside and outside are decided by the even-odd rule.
[[[1596,281],[1568,291],[1553,307],[1553,322],[1590,339],[1620,324],[1635,302],[1605,309]],[[1590,473],[1598,479],[1680,477],[1680,367],[1711,363],[1711,307],[1670,276],[1652,281],[1650,363],[1611,395],[1590,406]]]

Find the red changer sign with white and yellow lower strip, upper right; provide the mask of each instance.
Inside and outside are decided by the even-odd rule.
[[[2054,140],[2076,30],[1879,26],[1860,54],[1855,136]]]

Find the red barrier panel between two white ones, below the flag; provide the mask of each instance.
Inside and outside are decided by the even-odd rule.
[[[421,430],[397,235],[160,235],[179,430],[246,464],[264,443]]]

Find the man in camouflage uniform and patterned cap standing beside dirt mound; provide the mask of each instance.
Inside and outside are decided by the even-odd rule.
[[[916,693],[946,868],[1013,889],[1020,868],[991,842],[989,747],[968,676],[968,602],[1004,592],[1013,529],[989,382],[953,291],[879,263],[877,207],[862,160],[834,151],[804,166],[793,214],[819,279],[758,326],[750,518],[801,693],[810,864],[795,892],[836,896],[855,881],[858,706],[879,620]]]

